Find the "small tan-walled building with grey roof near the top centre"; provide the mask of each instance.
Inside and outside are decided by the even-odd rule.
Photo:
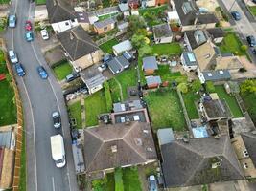
[[[98,21],[94,23],[94,31],[98,34],[103,34],[105,32],[109,32],[115,28],[115,19],[107,18],[102,21]]]

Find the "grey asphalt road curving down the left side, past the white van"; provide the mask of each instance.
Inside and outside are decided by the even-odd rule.
[[[27,148],[27,190],[28,191],[65,191],[78,190],[71,150],[68,117],[62,91],[36,43],[26,42],[25,20],[34,15],[35,3],[28,0],[13,0],[11,13],[17,16],[15,29],[8,29],[5,34],[8,48],[14,49],[26,70],[26,76],[18,77],[21,93],[26,133]],[[39,77],[36,67],[43,65],[49,78]],[[51,114],[59,111],[62,130],[53,127]],[[50,137],[61,133],[64,137],[67,164],[58,169],[51,156]]]

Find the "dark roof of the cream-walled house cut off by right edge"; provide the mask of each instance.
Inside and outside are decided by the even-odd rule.
[[[242,133],[241,137],[243,138],[244,145],[249,153],[250,159],[252,160],[254,166],[256,166],[256,135],[248,132]]]

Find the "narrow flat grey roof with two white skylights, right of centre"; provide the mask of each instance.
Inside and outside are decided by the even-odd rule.
[[[204,71],[202,74],[206,81],[222,81],[231,78],[231,74],[228,70]]]

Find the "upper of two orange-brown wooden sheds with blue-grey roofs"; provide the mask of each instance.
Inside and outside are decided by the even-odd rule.
[[[154,74],[157,69],[158,65],[155,56],[144,57],[142,59],[142,70],[144,71],[144,74]]]

